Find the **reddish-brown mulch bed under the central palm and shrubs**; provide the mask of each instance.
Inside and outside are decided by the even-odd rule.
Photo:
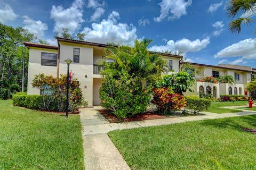
[[[145,121],[145,120],[153,120],[159,118],[170,118],[170,115],[161,115],[153,112],[146,112],[142,114],[134,115],[133,117],[127,117],[123,119],[118,119],[115,115],[112,115],[108,112],[107,109],[98,110],[110,123],[117,122],[133,122],[133,121]]]

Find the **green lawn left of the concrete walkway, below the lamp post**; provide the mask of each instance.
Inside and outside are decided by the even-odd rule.
[[[11,105],[0,100],[0,169],[84,169],[79,115]]]

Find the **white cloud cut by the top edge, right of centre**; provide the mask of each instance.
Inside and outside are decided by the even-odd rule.
[[[187,14],[187,7],[191,4],[192,0],[162,0],[162,2],[158,4],[161,7],[161,14],[154,18],[154,21],[161,22],[166,17],[168,20],[179,19],[182,15]]]

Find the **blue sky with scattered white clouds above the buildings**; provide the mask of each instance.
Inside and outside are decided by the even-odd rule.
[[[150,50],[181,51],[188,61],[256,67],[254,25],[240,34],[228,30],[230,18],[220,0],[0,0],[0,22],[24,27],[54,44],[54,31],[97,43],[132,44],[150,38]],[[245,15],[245,14],[241,14]]]

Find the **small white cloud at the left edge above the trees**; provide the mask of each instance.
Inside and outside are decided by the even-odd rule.
[[[1,5],[0,7],[0,22],[13,21],[17,18],[17,14],[15,14],[12,10],[12,7],[8,4]]]

